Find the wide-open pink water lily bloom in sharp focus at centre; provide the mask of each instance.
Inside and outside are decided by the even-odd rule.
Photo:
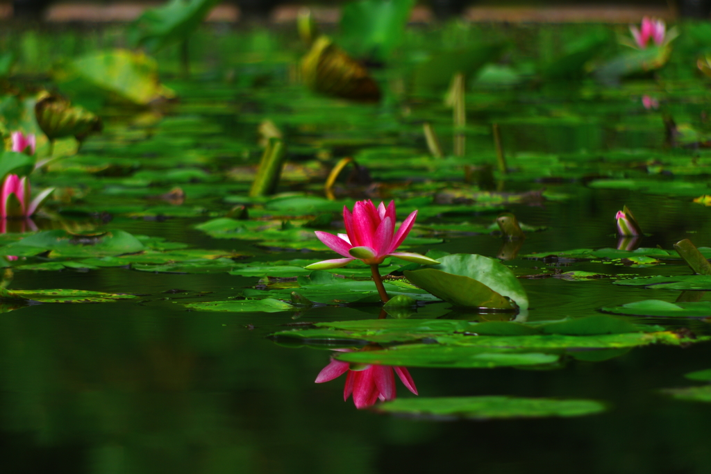
[[[358,201],[353,205],[351,213],[346,206],[343,206],[343,223],[346,226],[346,234],[333,235],[328,232],[316,231],[316,237],[326,244],[326,247],[343,255],[343,259],[324,260],[306,266],[311,270],[334,269],[348,264],[355,259],[363,260],[365,264],[378,265],[385,260],[385,257],[397,257],[424,265],[439,264],[437,260],[430,259],[424,255],[395,252],[405,240],[407,234],[415,224],[417,211],[413,211],[405,222],[402,222],[400,229],[395,232],[395,202],[385,208],[385,204],[380,203],[375,208],[371,200]]]

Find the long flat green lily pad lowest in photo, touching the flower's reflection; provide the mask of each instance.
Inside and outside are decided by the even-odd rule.
[[[596,400],[497,396],[395,399],[376,407],[377,411],[390,414],[478,420],[585,416],[606,409],[605,404]]]

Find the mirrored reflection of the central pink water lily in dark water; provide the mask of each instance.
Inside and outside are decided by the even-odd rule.
[[[350,352],[348,349],[340,349]],[[417,387],[405,367],[390,367],[387,365],[353,365],[348,362],[332,359],[316,377],[316,383],[328,382],[346,372],[346,387],[343,389],[343,401],[353,394],[356,408],[366,408],[375,404],[378,399],[386,401],[395,398],[395,373],[410,392],[417,395]],[[395,370],[395,373],[393,372]]]

